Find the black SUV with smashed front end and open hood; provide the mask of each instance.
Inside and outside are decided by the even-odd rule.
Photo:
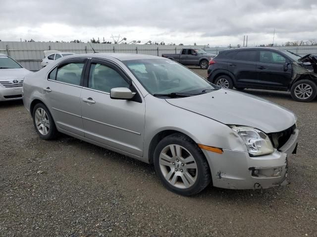
[[[228,49],[209,62],[208,80],[221,87],[290,91],[296,101],[317,95],[317,57],[267,47]]]

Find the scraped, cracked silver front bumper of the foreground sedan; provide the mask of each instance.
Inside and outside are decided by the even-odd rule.
[[[287,185],[287,158],[296,153],[298,129],[272,154],[250,157],[247,152],[223,150],[217,154],[202,150],[209,162],[214,187],[225,189],[267,189]]]

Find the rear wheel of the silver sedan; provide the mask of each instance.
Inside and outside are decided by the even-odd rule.
[[[33,123],[40,138],[51,140],[57,136],[56,126],[48,108],[42,104],[36,104],[33,109]]]

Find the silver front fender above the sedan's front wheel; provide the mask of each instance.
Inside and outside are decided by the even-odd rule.
[[[153,138],[162,131],[175,130],[195,143],[233,151],[246,152],[242,139],[227,125],[211,118],[169,104],[164,99],[147,96],[144,158],[148,159]],[[148,106],[151,105],[151,106]],[[208,108],[206,108],[208,109]]]

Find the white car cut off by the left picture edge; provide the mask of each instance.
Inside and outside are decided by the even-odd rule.
[[[11,57],[0,53],[0,101],[22,99],[23,79],[29,73]]]

